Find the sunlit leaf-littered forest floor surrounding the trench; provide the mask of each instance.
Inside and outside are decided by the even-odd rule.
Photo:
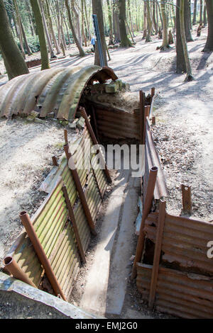
[[[185,74],[175,73],[174,45],[167,52],[160,52],[156,47],[162,40],[156,37],[151,43],[145,43],[138,35],[134,47],[109,50],[108,65],[119,79],[130,84],[137,96],[140,89],[148,94],[155,86],[153,134],[168,185],[168,213],[181,214],[180,185],[187,184],[192,189],[192,217],[212,221],[213,55],[201,52],[207,28],[197,38],[193,27],[192,37],[194,41],[188,43],[188,50],[194,81],[185,83]],[[70,48],[67,57],[51,62],[51,67],[93,64],[94,54],[80,58],[76,53],[75,47]],[[38,70],[40,67],[30,69],[31,72]],[[4,73],[2,62],[0,72]],[[3,75],[0,84],[6,80]],[[62,154],[63,129],[53,120],[23,126],[22,119],[2,119],[0,137],[1,260],[22,229],[18,213],[28,210],[31,214],[43,201],[38,187],[52,167],[51,157]],[[127,302],[132,291],[137,293],[133,288],[128,285]],[[131,307],[135,306],[134,299]],[[129,303],[125,306],[129,308]]]

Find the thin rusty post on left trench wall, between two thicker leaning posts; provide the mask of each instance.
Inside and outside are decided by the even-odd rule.
[[[79,235],[79,232],[78,232],[78,229],[77,229],[77,224],[76,224],[76,221],[75,221],[75,215],[74,215],[74,212],[73,212],[73,209],[72,209],[72,205],[70,203],[70,199],[69,199],[69,196],[68,196],[68,193],[67,193],[67,186],[65,186],[65,184],[62,186],[62,191],[63,191],[64,196],[65,196],[65,203],[67,205],[67,210],[68,210],[68,213],[70,215],[70,220],[72,222],[72,227],[73,227],[73,230],[75,232],[75,238],[76,238],[76,241],[77,241],[77,247],[79,249],[82,261],[83,261],[83,263],[85,263],[86,262],[86,258],[85,258],[85,255],[84,255],[84,249],[82,247],[82,242],[81,242],[80,235]]]

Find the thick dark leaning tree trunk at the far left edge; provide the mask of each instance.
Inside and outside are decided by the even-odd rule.
[[[26,62],[23,60],[18,45],[13,38],[4,0],[0,0],[0,49],[9,79],[29,72]]]

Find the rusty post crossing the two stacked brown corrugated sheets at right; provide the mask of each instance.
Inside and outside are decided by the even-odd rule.
[[[158,225],[156,230],[156,239],[155,239],[155,252],[153,259],[153,269],[151,275],[151,287],[148,298],[148,306],[152,309],[155,302],[155,293],[157,289],[158,282],[158,270],[160,263],[160,252],[162,247],[163,239],[163,228],[165,222],[165,201],[160,200],[159,213],[158,213]]]

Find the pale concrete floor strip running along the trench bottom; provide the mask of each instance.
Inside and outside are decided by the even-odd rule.
[[[131,170],[117,171],[92,267],[80,307],[97,315],[120,315],[134,253],[133,235],[140,178]]]

